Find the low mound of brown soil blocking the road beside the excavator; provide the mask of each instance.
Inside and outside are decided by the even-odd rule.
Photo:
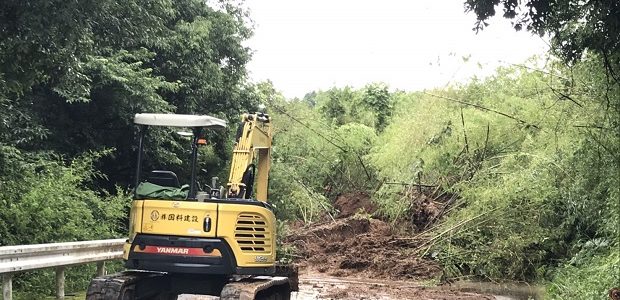
[[[287,237],[308,271],[333,276],[368,275],[369,278],[427,279],[440,268],[415,255],[417,243],[394,235],[383,221],[351,216],[302,227]]]

